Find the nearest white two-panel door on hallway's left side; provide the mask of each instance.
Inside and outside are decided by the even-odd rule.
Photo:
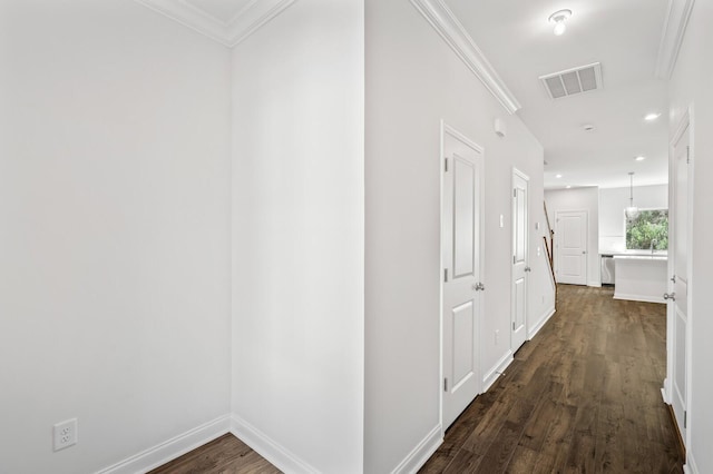
[[[480,393],[482,151],[443,128],[443,429]]]

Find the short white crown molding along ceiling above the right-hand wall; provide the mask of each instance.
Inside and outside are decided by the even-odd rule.
[[[668,0],[656,60],[656,77],[660,79],[668,80],[673,75],[694,2],[695,0]]]

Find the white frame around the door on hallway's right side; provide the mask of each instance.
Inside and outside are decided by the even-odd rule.
[[[687,209],[687,216],[686,216],[686,250],[687,250],[687,255],[686,255],[686,259],[688,261],[687,266],[686,266],[686,279],[687,279],[687,285],[686,285],[686,334],[685,334],[685,345],[686,345],[686,349],[685,349],[685,355],[684,357],[686,358],[685,363],[686,363],[686,396],[685,396],[685,403],[686,403],[686,426],[685,426],[685,440],[683,440],[684,444],[685,444],[685,448],[686,448],[686,453],[690,452],[691,450],[691,426],[693,424],[693,416],[692,416],[692,412],[691,412],[691,398],[692,398],[692,394],[691,394],[691,387],[692,387],[692,367],[691,367],[691,362],[693,358],[693,348],[692,348],[692,342],[693,342],[693,287],[694,287],[694,283],[693,283],[693,265],[692,261],[694,261],[694,256],[693,256],[693,188],[694,188],[694,167],[695,167],[695,142],[694,142],[694,120],[693,120],[693,103],[688,105],[688,107],[686,108],[686,110],[684,111],[683,116],[681,117],[681,120],[678,121],[677,126],[676,126],[676,131],[674,132],[670,144],[668,144],[668,213],[671,215],[671,210],[673,209],[673,224],[674,226],[677,226],[678,224],[676,223],[676,216],[675,216],[675,204],[674,204],[674,197],[675,197],[675,189],[672,186],[672,184],[675,185],[675,172],[676,172],[676,157],[675,157],[675,145],[676,142],[683,137],[683,134],[688,135],[688,169],[687,169],[687,196],[686,199],[688,201],[688,209]],[[672,206],[673,205],[673,206]],[[668,239],[671,243],[671,236],[672,236],[672,231],[671,231],[671,226],[668,228]],[[675,233],[673,233],[673,237],[675,239]],[[674,244],[675,245],[675,244]],[[671,249],[671,245],[668,246]],[[671,251],[668,253],[668,267],[667,267],[667,275],[673,275],[674,273],[674,265],[675,265],[675,251],[672,254]],[[671,277],[667,282],[667,288],[668,288],[668,293],[674,292],[674,284],[671,280]],[[667,304],[666,305],[666,378],[664,379],[664,387],[662,388],[662,395],[664,398],[664,402],[668,405],[671,405],[673,403],[673,381],[672,381],[672,374],[673,374],[673,364],[675,363],[675,361],[673,359],[673,354],[674,354],[674,340],[673,340],[673,325],[675,324],[675,318],[676,318],[676,314],[675,314],[675,308],[674,305]],[[684,460],[684,465],[685,465],[685,461]]]

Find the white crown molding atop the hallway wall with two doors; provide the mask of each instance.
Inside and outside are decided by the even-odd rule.
[[[411,0],[416,9],[428,20],[446,43],[466,63],[468,69],[484,83],[486,89],[509,113],[515,113],[520,103],[510,92],[478,45],[472,40],[456,14],[443,0]]]

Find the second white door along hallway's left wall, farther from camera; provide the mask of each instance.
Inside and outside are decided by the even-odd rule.
[[[528,266],[528,182],[529,178],[512,170],[512,285],[510,348],[517,350],[527,339],[527,276]]]

